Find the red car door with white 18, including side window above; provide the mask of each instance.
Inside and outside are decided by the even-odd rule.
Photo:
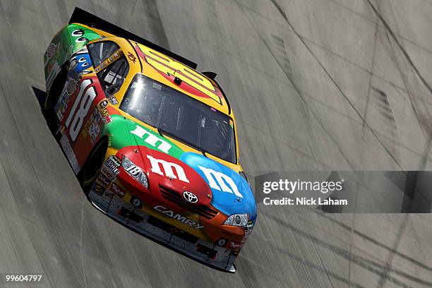
[[[76,174],[101,137],[102,125],[109,123],[109,115],[104,114],[107,96],[121,87],[128,73],[127,61],[115,42],[91,43],[88,51],[97,73],[80,78],[61,118],[64,131],[60,142]]]

